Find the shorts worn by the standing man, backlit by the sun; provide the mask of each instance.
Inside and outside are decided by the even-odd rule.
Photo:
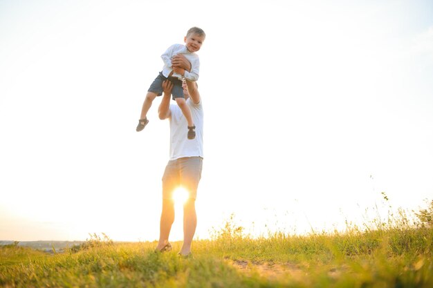
[[[189,198],[196,199],[202,167],[202,157],[169,160],[163,175],[163,199],[172,199],[178,186],[182,186],[190,194]]]

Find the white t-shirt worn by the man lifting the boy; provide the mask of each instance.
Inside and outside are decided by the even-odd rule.
[[[199,104],[194,104],[190,98],[187,99],[190,107],[192,121],[196,126],[196,137],[193,140],[187,138],[188,122],[176,104],[170,104],[172,115],[170,122],[170,160],[182,157],[203,157],[203,106],[201,100]]]

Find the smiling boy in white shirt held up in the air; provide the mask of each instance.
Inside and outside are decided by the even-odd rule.
[[[138,126],[136,128],[137,132],[142,131],[147,123],[149,123],[149,120],[146,117],[147,111],[149,111],[155,97],[163,94],[162,84],[163,81],[168,79],[173,83],[173,99],[176,101],[179,108],[181,108],[181,111],[188,122],[188,139],[191,140],[196,137],[196,131],[194,131],[196,126],[194,126],[194,123],[192,122],[191,111],[190,108],[188,108],[183,95],[182,79],[183,77],[190,81],[197,81],[197,79],[199,79],[200,61],[199,56],[196,55],[195,52],[200,50],[203,41],[205,41],[205,37],[205,32],[201,30],[201,28],[193,27],[187,31],[187,35],[183,39],[183,41],[185,41],[185,46],[182,44],[174,44],[170,46],[163,55],[161,55],[161,58],[163,58],[164,61],[163,71],[159,73],[158,77],[156,77],[149,87],[149,90],[147,90],[145,102],[143,103],[141,110],[141,117],[140,120],[138,120]],[[176,54],[185,55],[191,63],[191,70],[190,72],[185,71],[185,75],[173,72],[172,57]]]

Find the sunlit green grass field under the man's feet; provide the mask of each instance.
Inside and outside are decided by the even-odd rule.
[[[112,242],[93,235],[48,254],[0,247],[1,287],[433,287],[433,212],[409,224],[403,213],[344,233],[252,238],[232,220],[210,240],[194,242],[194,258],[156,242]],[[424,218],[423,218],[424,217]]]

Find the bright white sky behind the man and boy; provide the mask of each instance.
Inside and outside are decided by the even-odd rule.
[[[432,1],[3,0],[0,240],[158,238],[159,99],[135,129],[192,26],[207,35],[197,238],[232,213],[255,235],[303,233],[433,198]]]

